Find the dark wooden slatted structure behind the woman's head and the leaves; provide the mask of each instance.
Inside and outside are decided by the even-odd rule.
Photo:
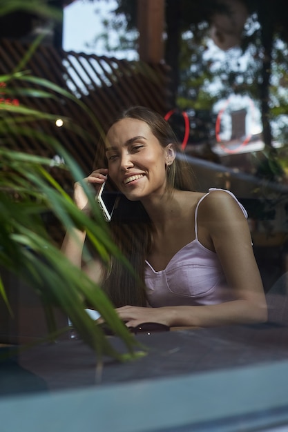
[[[29,46],[17,41],[1,39],[0,75],[10,74],[15,70],[28,49]],[[86,173],[93,168],[99,129],[105,130],[105,125],[119,110],[142,105],[164,115],[169,109],[166,94],[168,70],[163,64],[152,66],[142,61],[98,57],[55,50],[52,46],[39,46],[22,70],[28,70],[33,77],[48,79],[64,90],[69,90],[93,112],[95,121],[75,101],[67,97],[44,99],[15,95],[21,106],[70,119],[64,122],[61,128],[57,128],[54,121],[47,120],[37,121],[34,128],[37,132],[57,137]],[[20,80],[11,81],[7,89],[17,87],[41,88]],[[3,92],[3,88],[1,91]],[[27,125],[31,125],[31,121]],[[74,130],[71,130],[71,125]],[[84,137],[75,131],[75,125],[85,131]],[[10,133],[3,138],[3,142],[27,153],[55,157],[55,151],[37,137]]]

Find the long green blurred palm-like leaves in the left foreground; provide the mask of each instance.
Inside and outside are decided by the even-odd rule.
[[[15,2],[2,1],[0,14],[4,3],[11,6]],[[28,72],[21,72],[39,41],[32,44],[30,52],[21,63],[21,68],[18,67],[10,75],[0,76],[0,82],[12,82],[13,87],[9,91],[14,95],[17,95],[17,91],[19,94],[23,91],[20,88],[17,90],[15,82],[25,80],[26,83],[32,84],[30,90],[26,89],[26,94],[30,92],[32,97],[68,97],[80,104],[86,115],[93,119],[93,114],[86,106],[66,90],[45,79],[32,77]],[[42,89],[35,90],[34,84],[37,84],[38,88],[41,86]],[[43,131],[33,127],[37,120],[45,119],[55,123],[57,117],[28,106],[1,104],[0,110],[0,266],[23,279],[39,295],[46,316],[50,316],[48,324],[51,337],[68,330],[66,328],[59,331],[55,328],[53,311],[57,307],[69,317],[79,337],[97,353],[98,360],[101,360],[103,355],[110,355],[118,360],[142,355],[139,344],[119,320],[102,289],[81,269],[70,264],[59,251],[44,224],[44,215],[50,213],[65,230],[83,228],[87,232],[90,244],[104,264],[108,265],[111,255],[123,260],[111,241],[93,191],[83,183],[91,208],[91,217],[88,217],[75,206],[66,191],[50,175],[51,159],[10,150],[8,146],[10,134],[23,135],[26,139],[39,139],[45,142],[46,146],[53,148],[54,153],[65,161],[65,166],[59,166],[59,169],[68,170],[74,181],[81,181],[84,175],[79,166],[55,137],[45,135]],[[93,121],[95,128],[99,129],[97,119]],[[80,128],[78,132],[81,133]],[[89,252],[85,251],[84,259],[89,257]],[[0,277],[1,301],[6,302],[10,309],[6,291],[7,287],[3,286]],[[86,303],[90,308],[99,311],[111,330],[122,339],[126,346],[125,353],[115,351],[102,329],[86,313]],[[37,326],[37,323],[35,325]]]

